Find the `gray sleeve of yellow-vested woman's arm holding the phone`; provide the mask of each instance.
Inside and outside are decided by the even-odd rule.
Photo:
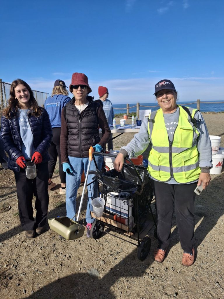
[[[198,132],[199,137],[197,139],[197,150],[199,152],[199,167],[212,167],[212,149],[211,140],[209,138],[208,129],[205,124],[205,120],[202,114],[198,111],[195,113],[194,118],[199,120],[198,122]]]

